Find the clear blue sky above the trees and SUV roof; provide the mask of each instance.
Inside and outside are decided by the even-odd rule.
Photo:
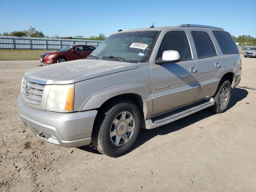
[[[256,0],[0,0],[0,33],[33,26],[48,36],[106,36],[119,29],[179,24],[256,37]]]

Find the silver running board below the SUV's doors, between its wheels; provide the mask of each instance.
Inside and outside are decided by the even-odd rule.
[[[168,124],[170,122],[176,121],[190,114],[198,112],[202,109],[213,106],[214,103],[215,103],[214,98],[210,97],[208,99],[195,102],[188,106],[184,106],[182,108],[178,108],[176,110],[173,110],[164,114],[160,114],[158,116],[155,116],[151,119],[146,120],[146,129],[153,129],[153,128]]]

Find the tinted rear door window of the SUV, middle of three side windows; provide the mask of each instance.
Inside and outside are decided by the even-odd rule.
[[[205,58],[217,55],[214,44],[206,32],[191,32],[196,45],[198,58]]]

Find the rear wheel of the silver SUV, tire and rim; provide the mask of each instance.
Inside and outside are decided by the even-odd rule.
[[[230,102],[231,90],[230,82],[228,80],[221,80],[214,95],[215,103],[209,109],[214,113],[224,112]]]

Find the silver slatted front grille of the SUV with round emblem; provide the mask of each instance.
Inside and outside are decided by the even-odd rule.
[[[27,103],[40,105],[44,90],[43,84],[31,82],[23,78],[21,85],[21,94]]]

